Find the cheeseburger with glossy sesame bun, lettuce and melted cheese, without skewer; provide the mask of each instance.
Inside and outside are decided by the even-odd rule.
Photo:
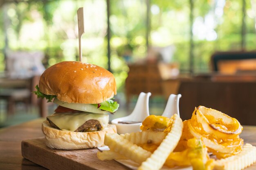
[[[108,113],[117,111],[112,100],[117,92],[115,77],[97,65],[63,61],[40,76],[34,92],[58,105],[42,124],[45,144],[56,149],[103,146],[105,133],[116,133]]]

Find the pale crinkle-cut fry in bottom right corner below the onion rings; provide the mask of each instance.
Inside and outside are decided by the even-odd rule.
[[[242,170],[256,162],[256,147],[245,144],[237,155],[215,161],[214,170]]]

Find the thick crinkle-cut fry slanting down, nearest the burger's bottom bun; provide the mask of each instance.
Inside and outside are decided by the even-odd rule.
[[[151,155],[147,150],[132,144],[132,142],[124,139],[124,137],[121,137],[117,133],[106,133],[104,144],[107,145],[110,150],[124,155],[137,163],[142,163]]]

